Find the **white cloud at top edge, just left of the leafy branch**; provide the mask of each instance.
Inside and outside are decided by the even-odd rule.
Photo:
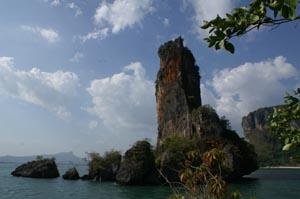
[[[217,15],[224,16],[230,12],[234,7],[235,0],[183,0],[183,5],[191,5],[194,9],[195,16],[194,30],[199,35],[199,38],[207,36],[207,31],[201,29],[203,20],[211,20]]]

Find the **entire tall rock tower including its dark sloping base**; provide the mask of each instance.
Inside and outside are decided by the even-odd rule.
[[[209,149],[204,147],[208,142],[220,143],[231,163],[231,172],[225,176],[229,180],[255,171],[258,165],[254,149],[232,131],[213,108],[201,105],[199,68],[191,51],[183,46],[181,37],[163,44],[158,55],[157,146],[159,169],[163,174],[178,181],[180,165],[174,161],[178,154],[164,146],[165,141],[174,136],[195,139],[196,149],[201,152]]]

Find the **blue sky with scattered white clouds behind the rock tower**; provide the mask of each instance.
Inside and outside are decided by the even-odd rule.
[[[230,119],[300,85],[299,22],[207,48],[204,19],[244,1],[3,0],[0,155],[125,150],[156,138],[160,44],[179,35],[200,67],[204,103]]]

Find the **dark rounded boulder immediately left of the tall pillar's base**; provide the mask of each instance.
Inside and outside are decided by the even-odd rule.
[[[121,185],[151,185],[159,183],[150,143],[138,141],[126,151],[116,180]]]

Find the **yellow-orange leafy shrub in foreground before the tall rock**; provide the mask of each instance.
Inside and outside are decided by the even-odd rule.
[[[228,156],[222,146],[201,154],[190,151],[179,174],[180,185],[183,189],[172,187],[170,199],[240,199],[239,192],[229,192],[228,184],[223,179],[223,172],[230,168]]]

